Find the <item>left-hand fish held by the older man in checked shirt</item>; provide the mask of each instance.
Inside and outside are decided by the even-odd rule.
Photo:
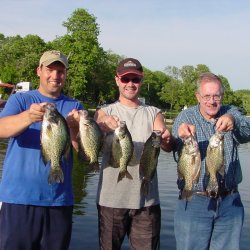
[[[191,200],[193,185],[197,184],[200,177],[201,155],[198,143],[194,136],[183,140],[182,149],[177,163],[177,174],[179,180],[184,180],[181,198]]]

